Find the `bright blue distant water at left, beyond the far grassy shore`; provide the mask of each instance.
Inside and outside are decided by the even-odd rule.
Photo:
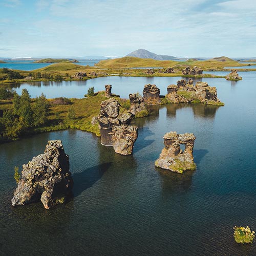
[[[52,63],[33,63],[33,60],[24,60],[24,61],[6,61],[7,63],[0,63],[0,69],[2,68],[8,68],[8,69],[16,69],[16,70],[35,70],[47,67],[51,65]],[[75,63],[77,65],[81,66],[94,66],[95,63],[98,63],[99,60],[81,60],[81,62]]]

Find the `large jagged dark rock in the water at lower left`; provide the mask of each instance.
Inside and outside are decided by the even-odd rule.
[[[64,203],[71,196],[73,179],[69,156],[60,140],[48,141],[44,154],[23,165],[22,177],[14,191],[12,205],[41,200],[46,209]]]

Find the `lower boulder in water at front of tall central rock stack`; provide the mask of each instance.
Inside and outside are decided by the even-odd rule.
[[[122,124],[114,126],[112,131],[114,151],[121,155],[131,155],[134,143],[138,137],[138,127]]]

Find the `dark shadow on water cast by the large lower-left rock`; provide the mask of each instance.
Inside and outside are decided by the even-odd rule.
[[[109,169],[111,162],[102,163],[84,170],[81,173],[72,175],[74,180],[73,195],[79,196],[84,190],[93,186],[103,176],[104,172]]]

